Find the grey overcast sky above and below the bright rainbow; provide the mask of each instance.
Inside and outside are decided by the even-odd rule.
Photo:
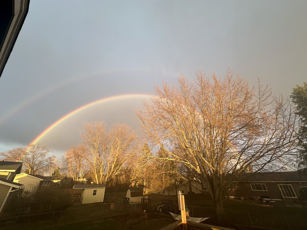
[[[307,81],[307,1],[38,1],[0,78],[0,151],[25,147],[93,101],[229,66],[290,95]],[[96,103],[39,142],[60,155],[85,122],[131,122],[146,96]]]

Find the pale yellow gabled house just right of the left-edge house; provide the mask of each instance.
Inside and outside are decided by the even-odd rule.
[[[21,183],[24,185],[25,189],[31,190],[33,188],[57,186],[58,184],[52,182],[54,179],[56,179],[54,176],[21,173],[15,176],[14,182]]]

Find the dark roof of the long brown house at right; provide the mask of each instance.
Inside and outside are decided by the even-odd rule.
[[[249,175],[251,174],[251,175]],[[245,173],[243,174],[243,182],[252,182],[252,181],[272,181],[272,182],[302,182],[306,181],[307,182],[307,175],[300,174],[297,171],[291,171],[291,172],[263,172],[263,173]]]

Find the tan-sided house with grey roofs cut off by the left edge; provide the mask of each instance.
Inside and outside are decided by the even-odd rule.
[[[15,175],[20,173],[21,167],[22,162],[3,160],[0,162],[0,216],[11,192],[23,186],[22,184],[13,182]]]

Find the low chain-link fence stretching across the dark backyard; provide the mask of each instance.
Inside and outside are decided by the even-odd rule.
[[[113,210],[111,210],[111,205],[113,205]],[[198,206],[187,206],[187,208],[191,217],[212,217],[209,219],[209,224],[213,225],[229,224],[238,225],[243,228],[251,227],[269,230],[306,229],[307,226],[307,217],[295,214],[217,209]],[[178,213],[178,205],[168,205],[167,210],[172,213]],[[15,224],[26,224],[34,221],[52,221],[55,219],[64,222],[66,220],[74,220],[80,216],[86,216],[88,220],[96,220],[101,217],[108,218],[135,211],[143,212],[140,202],[131,202],[119,197],[105,195],[103,204],[92,204],[89,207],[73,205],[70,209],[63,211],[5,217],[0,219],[0,226],[13,226]]]

